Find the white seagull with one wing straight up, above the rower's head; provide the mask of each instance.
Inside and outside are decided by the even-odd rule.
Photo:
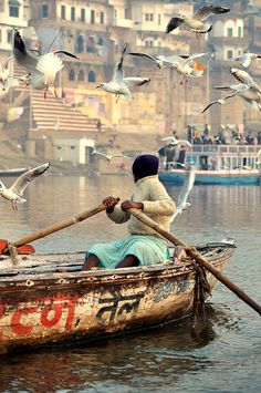
[[[101,83],[96,87],[96,89],[103,89],[107,93],[115,94],[116,102],[118,102],[121,95],[123,95],[127,101],[132,101],[132,94],[129,87],[142,86],[143,84],[148,83],[150,81],[149,77],[139,77],[139,76],[124,77],[123,61],[124,61],[124,55],[126,50],[127,50],[127,44],[124,45],[121,59],[114,68],[114,75],[112,81],[108,83]]]

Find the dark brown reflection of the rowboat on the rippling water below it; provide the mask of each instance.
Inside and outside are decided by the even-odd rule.
[[[136,385],[142,373],[147,387],[167,385],[167,380],[178,380],[182,374],[211,368],[212,361],[195,356],[197,350],[216,338],[215,323],[227,323],[221,310],[207,307],[206,323],[194,330],[189,320],[179,325],[166,325],[139,334],[127,334],[74,348],[45,348],[35,353],[11,354],[0,369],[1,389],[12,392],[54,392],[60,389],[79,391],[84,387],[108,384]],[[39,370],[42,370],[41,378]]]

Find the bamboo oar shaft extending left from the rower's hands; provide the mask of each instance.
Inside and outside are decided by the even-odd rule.
[[[97,213],[103,211],[105,209],[106,209],[106,206],[101,204],[92,210],[86,210],[86,211],[80,213],[70,219],[51,225],[50,227],[41,229],[32,235],[29,235],[29,236],[18,240],[18,241],[11,242],[11,245],[15,246],[15,247],[20,247],[20,246],[23,246],[28,242],[32,242],[34,240],[41,239],[42,237],[45,237],[45,236],[51,235],[53,232],[56,232],[58,230],[67,228],[76,223],[81,223],[88,217],[95,216]]]

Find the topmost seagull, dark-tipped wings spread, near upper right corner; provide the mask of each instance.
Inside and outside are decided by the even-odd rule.
[[[206,23],[206,19],[208,19],[212,13],[226,13],[229,11],[230,9],[226,7],[206,6],[200,8],[192,15],[180,14],[179,17],[170,19],[166,28],[166,33],[177,29],[182,23],[196,33],[207,33],[212,29],[212,24]]]

